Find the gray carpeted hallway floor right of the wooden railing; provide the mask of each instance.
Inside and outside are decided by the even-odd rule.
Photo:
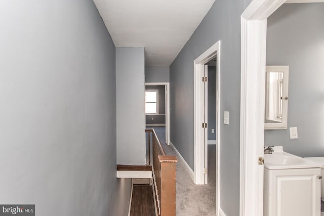
[[[149,127],[154,131],[159,140],[165,139],[165,127]],[[168,155],[176,155],[173,149],[161,143]],[[207,185],[195,185],[191,179],[185,164],[178,158],[176,179],[176,214],[186,215],[208,215],[215,214],[215,152],[216,145],[208,146],[208,182]]]

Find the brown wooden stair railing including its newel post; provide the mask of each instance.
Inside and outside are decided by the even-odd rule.
[[[157,214],[176,215],[176,156],[167,155],[159,142],[154,129],[145,129],[148,133],[148,162],[152,166]],[[150,134],[152,133],[152,143]],[[152,156],[151,146],[152,144]],[[152,161],[151,161],[152,157]]]

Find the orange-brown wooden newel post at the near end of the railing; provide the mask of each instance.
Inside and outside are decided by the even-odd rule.
[[[159,155],[161,175],[161,216],[176,215],[176,156]]]

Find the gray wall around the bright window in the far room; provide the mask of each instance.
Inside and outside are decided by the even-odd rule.
[[[165,85],[146,85],[145,90],[158,90],[158,115],[146,115],[147,124],[166,123],[166,91]],[[153,120],[152,120],[153,117]]]

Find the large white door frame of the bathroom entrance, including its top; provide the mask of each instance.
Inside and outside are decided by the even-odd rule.
[[[241,15],[240,216],[263,215],[267,18],[286,0],[253,0]],[[287,3],[323,2],[288,0]]]

